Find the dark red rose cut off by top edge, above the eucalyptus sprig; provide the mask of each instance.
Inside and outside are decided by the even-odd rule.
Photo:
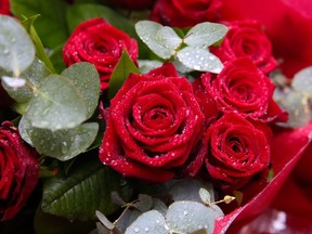
[[[158,0],[150,20],[172,27],[191,27],[218,18],[220,0]]]

